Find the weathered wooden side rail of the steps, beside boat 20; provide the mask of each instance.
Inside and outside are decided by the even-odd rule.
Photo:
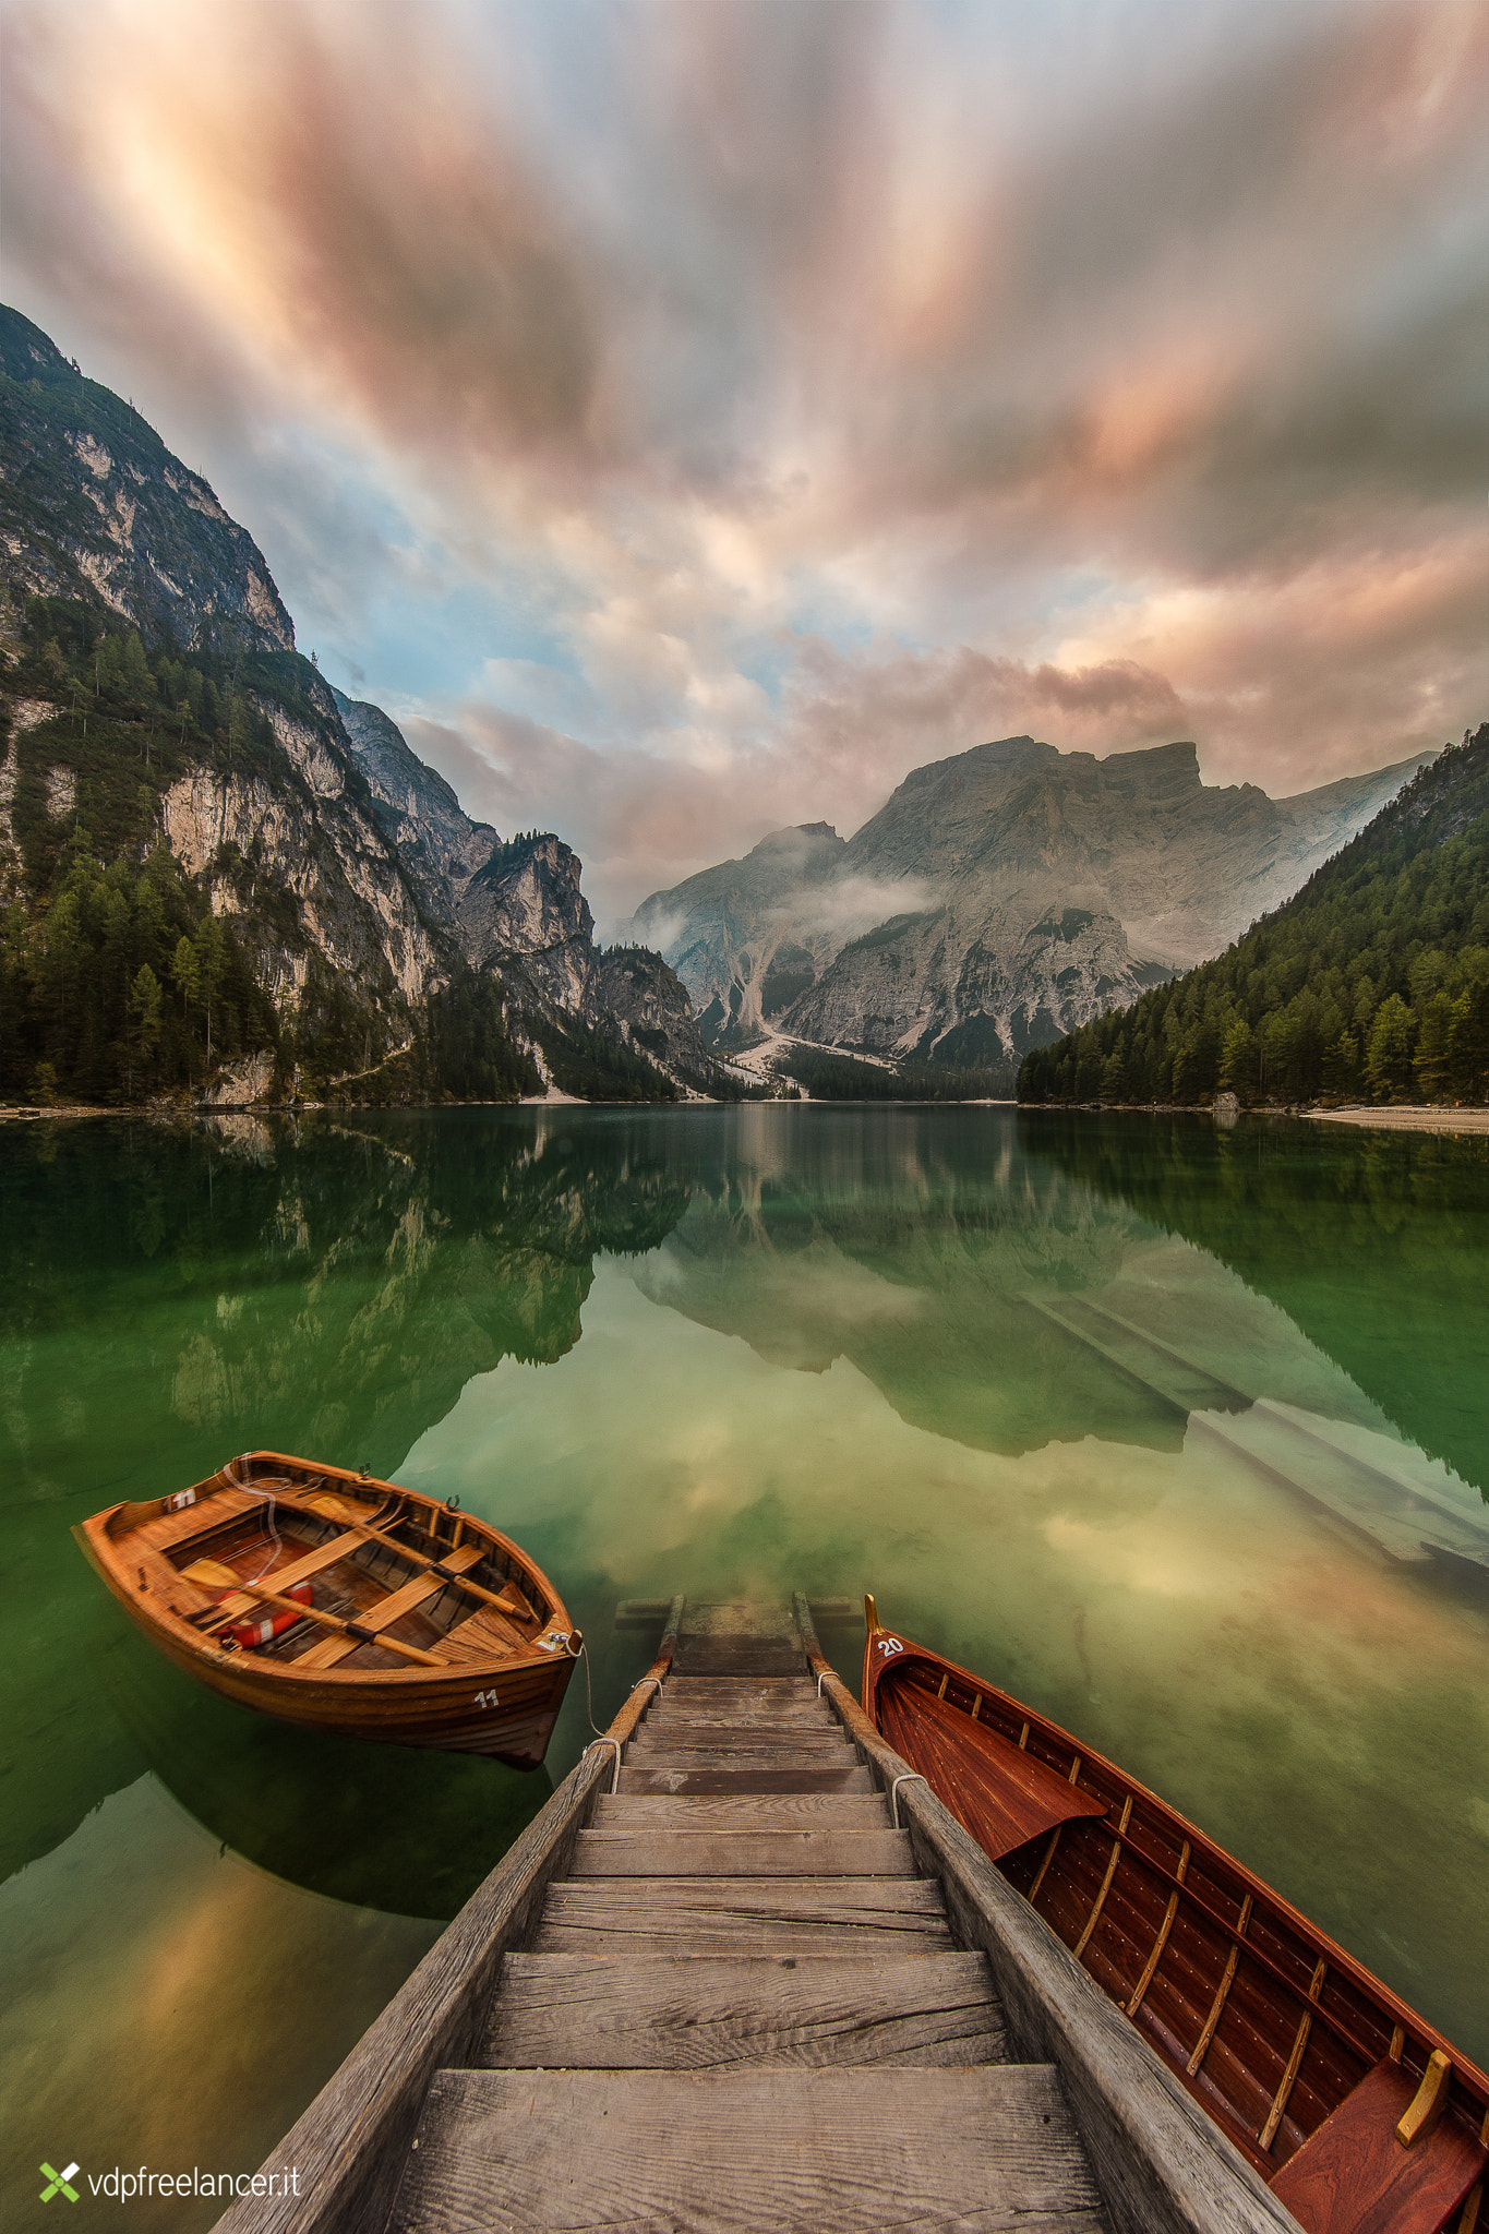
[[[795,1600],[813,1669],[859,1756],[886,1787],[911,1774],[830,1671]],[[900,1785],[922,1870],[944,1885],[958,1939],[982,1948],[1009,2033],[1063,2078],[1112,2225],[1121,2234],[1299,2234],[1293,2214],[1230,2147],[1139,2031],[1107,2002],[1045,1919],[924,1783]]]

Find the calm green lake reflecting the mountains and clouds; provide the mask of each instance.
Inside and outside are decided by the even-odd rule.
[[[873,1588],[1489,2062],[1489,1142],[98,1119],[0,1126],[0,1188],[7,2225],[42,2158],[252,2169],[589,1736],[583,1680],[520,1776],[176,1673],[69,1530],[254,1445],[518,1537],[601,1722],[623,1597]]]

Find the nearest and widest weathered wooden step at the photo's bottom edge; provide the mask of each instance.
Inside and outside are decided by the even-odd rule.
[[[440,2071],[388,2225],[1101,2234],[1103,2216],[1047,2064]]]

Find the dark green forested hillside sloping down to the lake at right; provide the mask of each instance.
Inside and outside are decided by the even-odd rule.
[[[1489,724],[1226,954],[1029,1054],[1020,1101],[1489,1101]]]

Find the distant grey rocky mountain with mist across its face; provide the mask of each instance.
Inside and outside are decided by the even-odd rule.
[[[768,1025],[891,1059],[1000,1063],[1127,1005],[1275,907],[1418,760],[1290,800],[1210,786],[1192,744],[1005,737],[915,768],[851,840],[822,822],[652,894],[717,1046]]]

